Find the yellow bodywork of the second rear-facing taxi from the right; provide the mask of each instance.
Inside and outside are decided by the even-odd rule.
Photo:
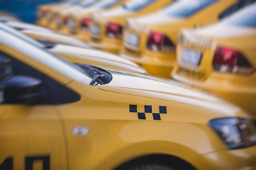
[[[210,6],[203,8],[188,18],[166,16],[166,14],[158,11],[149,16],[131,19],[128,24],[129,26],[124,29],[121,55],[128,60],[142,65],[149,74],[168,78],[176,61],[175,46],[181,28],[196,28],[215,23],[219,20],[218,16],[223,11],[237,2],[237,0],[215,1]],[[151,31],[166,35],[173,42],[173,49],[168,52],[147,49],[146,43]],[[128,33],[139,36],[139,44],[137,46],[127,45]]]

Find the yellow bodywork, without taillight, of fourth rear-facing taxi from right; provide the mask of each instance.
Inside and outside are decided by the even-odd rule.
[[[71,13],[69,22],[75,23],[75,26],[67,23],[67,25],[63,25],[63,27],[60,28],[60,33],[63,33],[65,35],[74,35],[75,38],[78,38],[85,42],[90,40],[89,28],[82,29],[82,18],[90,19],[93,13],[98,13],[102,11],[111,10],[112,8],[117,8],[118,6],[124,4],[127,0],[116,1],[115,4],[112,4],[112,6],[109,6],[108,8],[103,8],[101,5],[103,3],[106,3],[107,1],[103,0],[90,8],[86,8],[85,10]]]

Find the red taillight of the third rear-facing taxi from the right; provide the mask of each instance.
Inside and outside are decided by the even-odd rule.
[[[108,38],[122,38],[122,26],[118,23],[107,23],[106,36]]]

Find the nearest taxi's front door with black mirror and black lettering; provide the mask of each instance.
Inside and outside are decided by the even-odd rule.
[[[20,91],[26,88],[26,83],[25,87],[19,86],[24,79],[47,81],[46,76],[38,76],[41,73],[36,69],[28,68],[31,67],[0,52],[0,170],[67,169],[65,139],[56,105],[43,102],[50,100],[50,95],[40,101],[23,100],[31,98],[27,95],[31,93],[29,89]],[[14,81],[18,82],[18,89]],[[43,88],[49,91],[51,87]]]

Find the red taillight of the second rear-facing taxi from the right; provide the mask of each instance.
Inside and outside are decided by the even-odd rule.
[[[146,48],[154,52],[174,52],[175,45],[171,40],[164,35],[156,31],[149,33],[149,38],[146,42]]]

